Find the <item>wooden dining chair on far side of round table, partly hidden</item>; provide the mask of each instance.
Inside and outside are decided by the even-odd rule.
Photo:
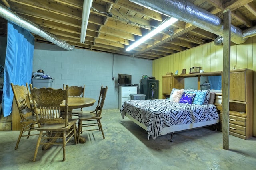
[[[65,84],[63,84],[63,90],[65,90]],[[84,86],[68,86],[68,97],[84,97],[85,85]],[[78,114],[83,111],[83,108],[80,110],[72,110],[72,118],[78,119]]]

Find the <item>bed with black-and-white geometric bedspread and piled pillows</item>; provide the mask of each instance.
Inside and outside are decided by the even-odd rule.
[[[201,102],[180,102],[184,94],[194,95],[192,101],[196,102],[200,96]],[[215,93],[210,90],[173,89],[170,99],[127,100],[120,112],[123,119],[126,116],[145,129],[148,139],[171,133],[170,141],[173,141],[174,133],[218,124],[219,114],[213,104],[214,97]]]

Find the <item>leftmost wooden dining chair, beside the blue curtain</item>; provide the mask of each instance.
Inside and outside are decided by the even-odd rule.
[[[36,130],[38,127],[37,121],[36,121],[36,116],[32,115],[32,109],[28,107],[27,103],[27,97],[29,94],[28,91],[28,84],[26,83],[25,86],[20,86],[20,85],[14,85],[11,83],[12,86],[12,92],[14,94],[14,99],[17,104],[19,113],[20,113],[20,124],[21,124],[21,129],[20,129],[20,135],[18,137],[16,147],[15,149],[18,149],[18,145],[20,143],[21,137],[27,137],[29,138],[30,136],[34,135],[39,135],[39,133],[36,134],[31,134],[30,132],[33,130]],[[26,135],[25,132],[28,131],[28,134]]]

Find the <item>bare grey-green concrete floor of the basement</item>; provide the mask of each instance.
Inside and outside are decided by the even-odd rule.
[[[32,162],[37,137],[21,139],[19,131],[0,131],[0,170],[255,170],[256,137],[248,140],[229,136],[229,150],[222,149],[222,133],[206,128],[150,138],[144,129],[122,119],[118,109],[104,110],[99,131],[84,132],[84,144],[39,149]]]

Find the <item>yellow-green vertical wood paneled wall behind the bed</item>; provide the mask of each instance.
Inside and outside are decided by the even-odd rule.
[[[256,37],[250,37],[243,44],[231,44],[230,68],[249,68],[254,70],[254,106],[256,106]],[[223,46],[207,43],[193,49],[168,55],[153,61],[152,76],[159,80],[159,97],[162,97],[162,76],[167,72],[181,74],[182,69],[200,66],[204,72],[223,70]],[[256,136],[256,107],[254,107],[254,136]]]

